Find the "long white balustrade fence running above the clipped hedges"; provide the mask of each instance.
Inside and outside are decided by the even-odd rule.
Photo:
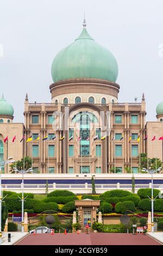
[[[91,184],[24,184],[24,192],[32,192],[32,193],[38,193],[43,194],[46,191],[46,188],[48,186],[48,192],[52,192],[53,190],[69,190],[76,194],[83,194],[83,193],[91,193],[92,192],[92,185]],[[132,191],[132,185],[131,184],[96,184],[96,192],[97,193],[104,193],[108,190],[127,190]],[[149,184],[135,184],[135,193],[137,193],[137,190],[139,188],[151,188],[151,183]],[[153,188],[157,188],[159,190],[163,190],[163,184],[154,184]],[[2,185],[3,190],[7,191],[14,191],[17,193],[20,193],[22,191],[22,184],[3,184]]]

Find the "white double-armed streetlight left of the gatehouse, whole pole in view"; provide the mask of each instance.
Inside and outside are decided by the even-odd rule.
[[[16,167],[13,167],[12,172],[13,171],[22,174],[22,198],[20,198],[19,196],[18,196],[18,198],[20,198],[20,200],[22,202],[22,232],[24,232],[24,200],[28,197],[27,196],[24,198],[24,174],[33,172],[33,169],[29,168],[28,170],[18,170]]]

